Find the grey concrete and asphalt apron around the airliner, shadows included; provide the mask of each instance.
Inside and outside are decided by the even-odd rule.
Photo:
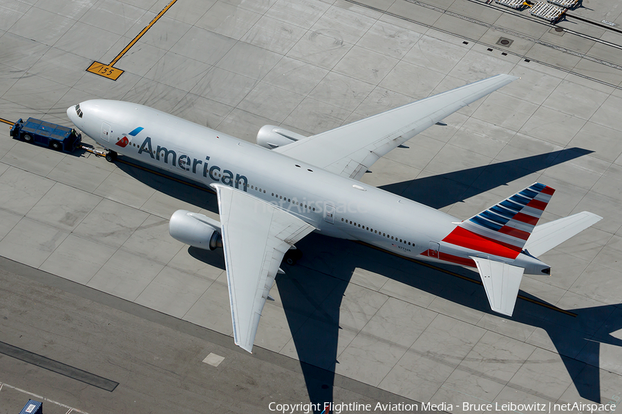
[[[510,73],[521,79],[393,150],[363,181],[460,219],[540,181],[556,188],[544,221],[583,210],[603,220],[541,257],[552,274],[523,278],[511,318],[491,313],[471,269],[310,235],[247,355],[231,337],[222,252],[167,233],[179,208],[217,218],[214,195],[126,159],[15,141],[7,125],[0,342],[31,363],[0,354],[1,413],[28,399],[16,388],[59,403],[46,410],[88,413],[269,412],[272,398],[455,413],[465,402],[621,399],[616,2],[585,0],[556,26],[475,0],[178,0],[154,21],[167,5],[4,1],[0,118],[70,126],[68,106],[100,97],[254,141],[265,124],[312,135]],[[211,366],[209,354],[224,359]]]

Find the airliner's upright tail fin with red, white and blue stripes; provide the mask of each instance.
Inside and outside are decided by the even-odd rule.
[[[458,226],[520,252],[554,192],[545,184],[531,184]]]

